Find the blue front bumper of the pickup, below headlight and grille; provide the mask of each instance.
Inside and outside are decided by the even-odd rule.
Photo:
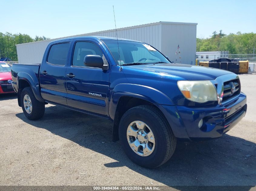
[[[167,118],[174,135],[186,140],[206,140],[221,137],[234,127],[247,110],[246,95],[241,93],[225,105],[186,107],[158,105]],[[203,119],[203,126],[198,123]]]

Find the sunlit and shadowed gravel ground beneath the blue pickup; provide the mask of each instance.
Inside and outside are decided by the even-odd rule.
[[[163,166],[132,163],[112,124],[101,118],[46,105],[29,121],[16,95],[0,95],[0,185],[256,185],[256,75],[240,75],[247,114],[221,138],[179,142]]]

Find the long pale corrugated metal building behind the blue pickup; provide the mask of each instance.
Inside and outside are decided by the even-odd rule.
[[[148,43],[161,51],[176,63],[195,64],[197,23],[157,22],[133,27],[117,29],[119,38],[138,40]],[[78,36],[116,37],[115,29]],[[67,37],[62,37],[67,38]],[[62,39],[57,38],[57,39]],[[32,43],[17,44],[18,62],[21,64],[41,63],[45,48],[53,40],[43,40]],[[177,51],[180,47],[180,54]],[[177,54],[175,54],[177,51]],[[181,56],[181,60],[179,58]]]

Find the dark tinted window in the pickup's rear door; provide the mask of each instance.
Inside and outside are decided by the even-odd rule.
[[[69,43],[52,45],[47,62],[53,65],[65,65],[68,56]]]

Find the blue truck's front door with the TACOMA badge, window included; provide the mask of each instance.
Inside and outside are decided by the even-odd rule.
[[[73,44],[73,54],[66,70],[68,107],[108,116],[109,70],[84,65],[86,55],[103,56],[102,49],[90,41]]]

